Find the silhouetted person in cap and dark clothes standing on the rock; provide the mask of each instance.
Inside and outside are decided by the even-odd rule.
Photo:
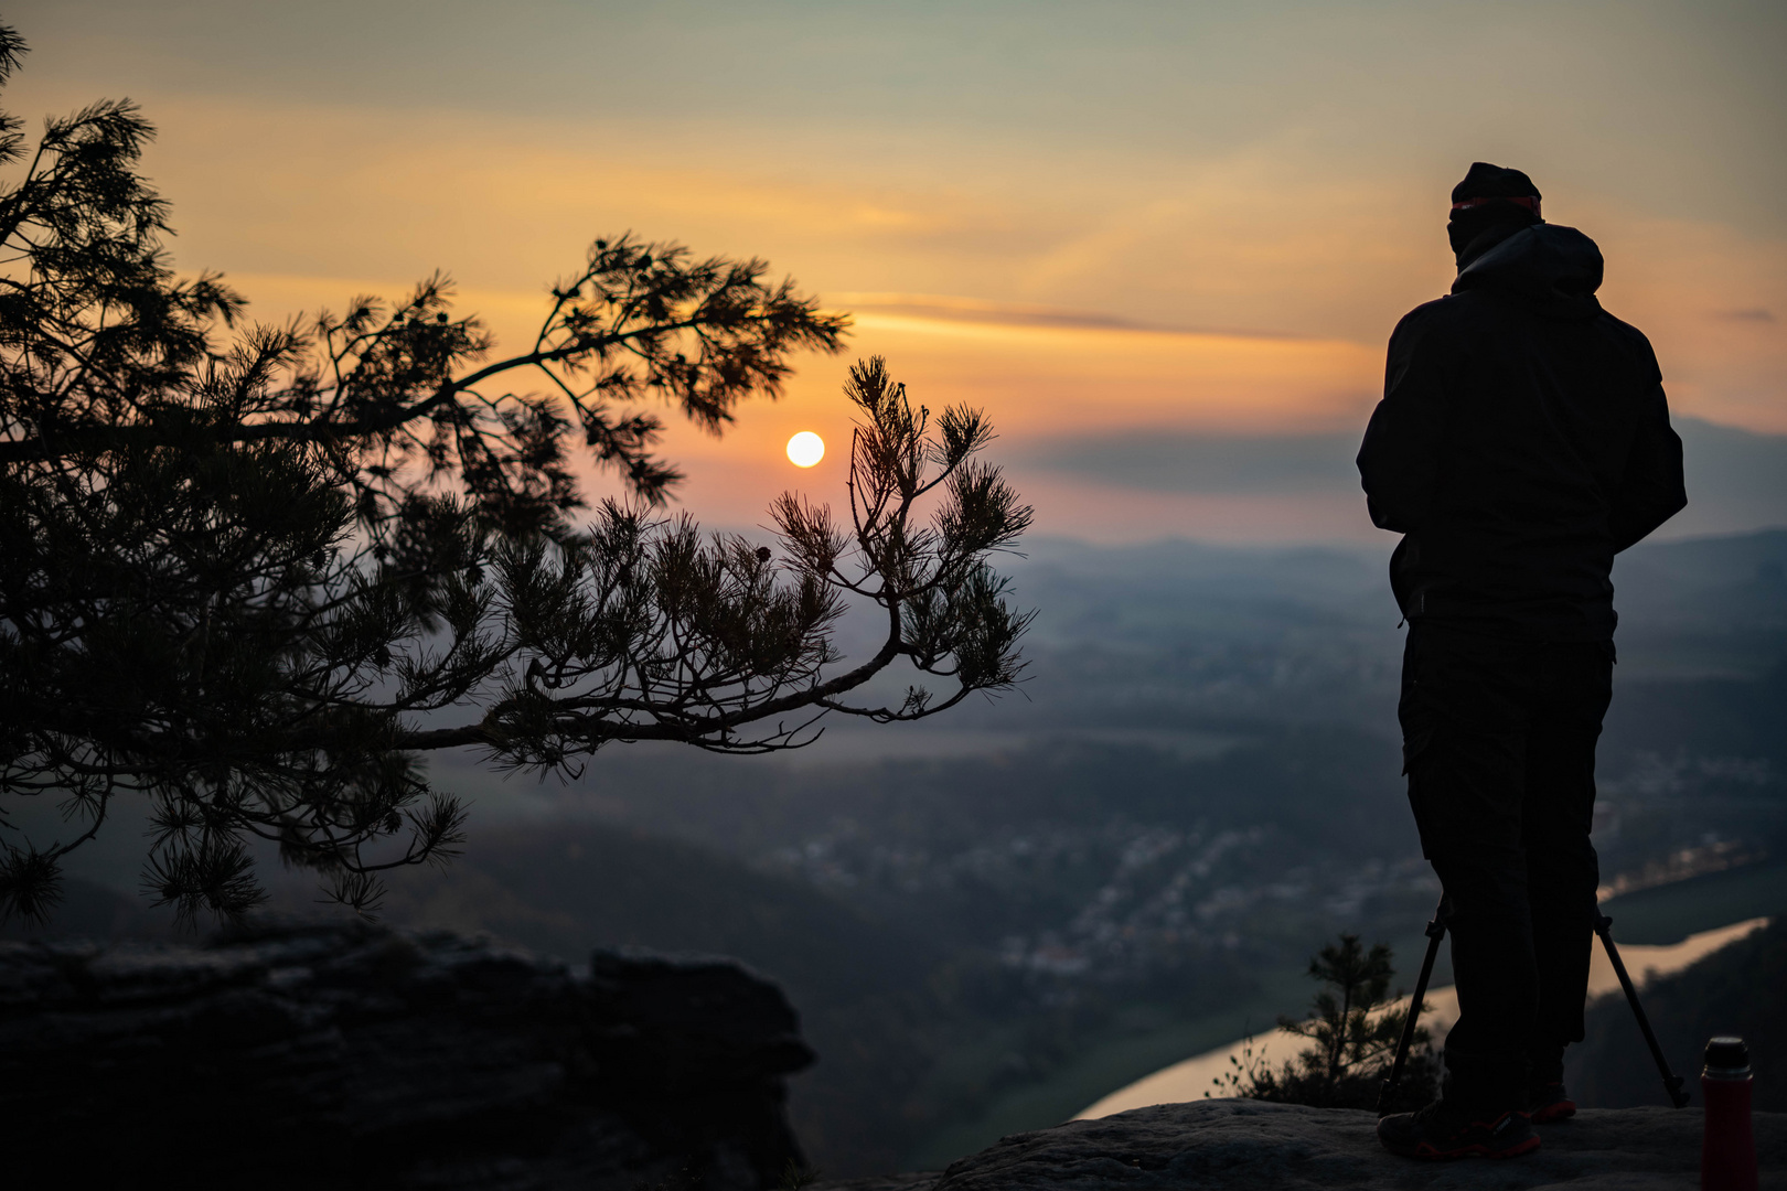
[[[1639,330],[1601,309],[1601,252],[1539,218],[1519,170],[1453,189],[1451,295],[1390,336],[1358,470],[1403,534],[1403,771],[1451,902],[1460,1018],[1446,1089],[1378,1125],[1417,1157],[1510,1157],[1576,1111],[1599,866],[1594,743],[1614,668],[1614,555],[1687,504],[1682,439]]]

